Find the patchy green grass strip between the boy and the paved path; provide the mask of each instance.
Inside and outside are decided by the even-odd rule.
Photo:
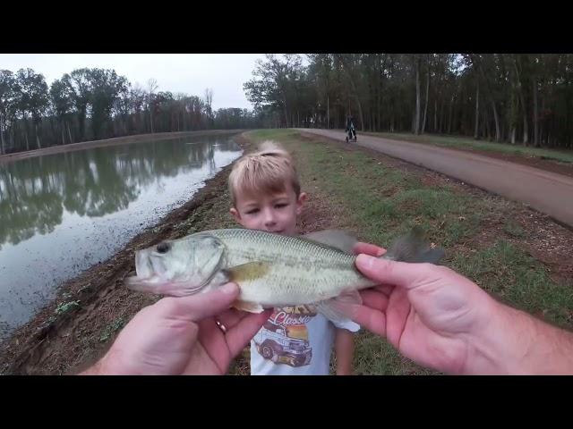
[[[365,152],[344,150],[318,136],[302,139],[294,130],[256,130],[249,137],[276,139],[295,154],[303,188],[312,182],[332,206],[342,207],[360,240],[387,245],[420,225],[429,240],[446,248],[444,265],[514,307],[571,327],[571,282],[553,282],[543,264],[502,238],[465,246],[487,231],[488,217],[508,217],[512,206],[506,201],[460,194],[448,184],[428,186],[417,175],[387,167]],[[509,239],[526,235],[512,221],[502,231]],[[356,336],[354,367],[357,374],[433,374],[368,332]]]

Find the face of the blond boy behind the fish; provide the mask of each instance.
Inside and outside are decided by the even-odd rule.
[[[260,195],[237,192],[235,197],[236,205],[231,208],[231,214],[245,228],[296,234],[296,218],[306,200],[304,192],[296,198],[295,190],[289,185],[285,192]]]

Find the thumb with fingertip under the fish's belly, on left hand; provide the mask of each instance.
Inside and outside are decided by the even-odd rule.
[[[196,322],[210,315],[218,315],[224,312],[231,306],[238,295],[239,287],[235,283],[227,283],[207,293],[187,297],[164,298],[159,303],[161,303],[167,317]]]

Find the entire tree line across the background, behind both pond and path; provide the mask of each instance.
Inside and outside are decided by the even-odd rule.
[[[132,85],[83,68],[48,87],[0,70],[0,154],[131,134],[204,129],[345,128],[573,147],[570,54],[266,55],[244,83],[253,110]]]

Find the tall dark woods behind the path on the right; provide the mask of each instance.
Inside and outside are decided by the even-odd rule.
[[[306,60],[304,62],[304,59]],[[265,126],[573,147],[573,55],[266,55],[244,91]]]

